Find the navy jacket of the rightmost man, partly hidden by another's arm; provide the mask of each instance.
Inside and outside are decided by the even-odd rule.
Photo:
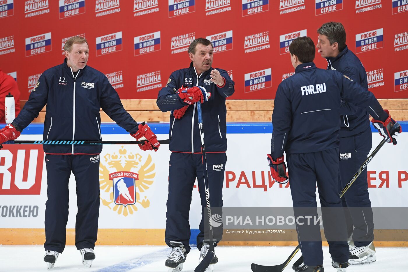
[[[337,57],[326,57],[327,70],[337,70],[350,77],[364,88],[368,88],[367,73],[359,58],[347,46]],[[370,119],[365,108],[357,106],[356,102],[341,100],[340,107],[340,137],[357,135],[370,129]],[[374,117],[374,116],[373,116]]]

